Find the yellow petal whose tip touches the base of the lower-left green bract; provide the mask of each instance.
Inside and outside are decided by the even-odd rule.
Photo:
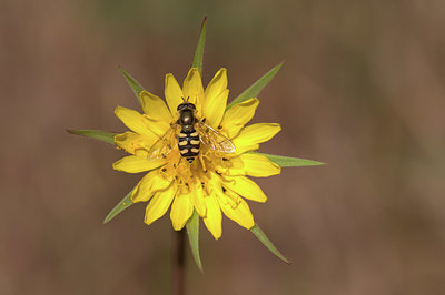
[[[156,192],[166,190],[170,185],[171,180],[160,174],[158,170],[147,173],[132,192],[132,202],[147,202]]]

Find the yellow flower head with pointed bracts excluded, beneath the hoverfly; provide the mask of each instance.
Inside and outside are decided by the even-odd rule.
[[[115,143],[130,153],[113,164],[128,173],[148,173],[131,194],[132,202],[149,202],[145,222],[151,224],[170,207],[176,231],[181,230],[196,211],[215,238],[221,236],[221,212],[243,227],[254,227],[254,216],[244,199],[266,202],[261,189],[247,176],[267,177],[280,173],[280,166],[266,156],[249,153],[280,131],[276,123],[245,126],[258,106],[257,99],[235,104],[226,111],[227,71],[220,69],[206,89],[197,68],[191,68],[182,88],[172,74],[166,75],[165,99],[142,91],[139,95],[144,114],[118,106],[116,115],[131,131],[115,136]],[[199,155],[189,163],[181,156],[176,138],[161,140],[164,157],[154,159],[152,146],[175,128],[177,108],[185,99],[196,105],[196,119],[204,121],[235,145],[235,152],[216,151],[204,141]],[[168,149],[170,146],[171,149]]]

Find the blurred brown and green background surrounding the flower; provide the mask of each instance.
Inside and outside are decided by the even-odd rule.
[[[126,130],[118,67],[162,95],[205,14],[205,83],[226,67],[234,98],[286,61],[254,120],[284,130],[260,151],[329,164],[258,180],[256,221],[293,265],[226,218],[220,241],[201,227],[188,294],[444,294],[442,0],[2,0],[0,294],[170,294],[168,215],[102,225],[140,175],[65,130]]]

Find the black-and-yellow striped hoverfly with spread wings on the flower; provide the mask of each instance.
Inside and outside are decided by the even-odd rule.
[[[148,151],[150,160],[166,157],[176,145],[179,153],[189,163],[194,162],[200,151],[200,143],[208,145],[211,150],[222,153],[235,152],[235,145],[204,121],[196,118],[196,106],[188,99],[178,105],[179,119]],[[176,142],[177,144],[171,144]]]

